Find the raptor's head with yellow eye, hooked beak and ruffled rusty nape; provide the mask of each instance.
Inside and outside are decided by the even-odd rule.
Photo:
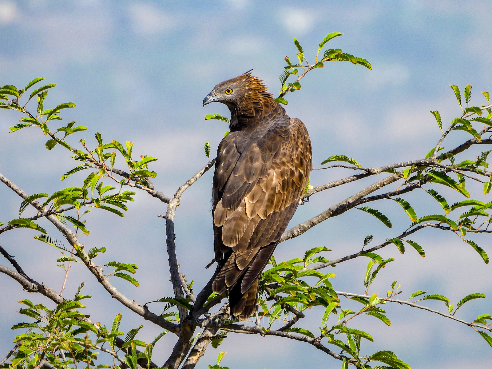
[[[227,105],[232,115],[243,117],[258,116],[268,107],[275,106],[276,102],[265,83],[252,76],[251,70],[220,82],[205,96],[203,106],[211,102],[221,102]]]

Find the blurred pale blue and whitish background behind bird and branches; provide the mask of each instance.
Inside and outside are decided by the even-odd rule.
[[[204,143],[210,142],[215,151],[227,129],[223,122],[204,121],[205,114],[228,113],[222,105],[206,109],[201,105],[215,84],[255,68],[253,73],[277,92],[283,58],[295,57],[293,37],[299,39],[309,60],[324,35],[340,31],[344,35],[331,41],[330,47],[367,59],[373,70],[328,63],[307,75],[301,91],[289,96],[286,110],[307,125],[315,166],[334,154],[352,156],[363,166],[379,166],[422,158],[435,145],[439,130],[429,110],[439,110],[444,122],[459,114],[450,84],[462,89],[470,83],[474,104],[485,102],[479,92],[492,89],[491,11],[489,1],[0,0],[0,85],[24,86],[38,76],[57,83],[48,103],[77,105],[63,113],[65,120],[77,119],[88,126],[83,134],[88,141],[98,131],[106,141],[135,142],[135,154],[158,157],[152,166],[158,173],[154,183],[171,195],[206,163]],[[54,192],[80,181],[60,183],[60,176],[75,166],[66,152],[60,147],[46,151],[46,138],[34,129],[8,134],[8,127],[19,117],[15,112],[0,113],[3,175],[28,193]],[[456,134],[446,147],[463,139]],[[316,171],[311,183],[324,184],[346,175],[342,170]],[[204,269],[213,258],[211,181],[212,173],[207,173],[193,185],[177,213],[179,262],[197,287],[211,274]],[[299,208],[291,225],[320,213],[362,185],[318,194],[315,201],[313,197]],[[474,189],[481,193],[481,188]],[[461,200],[451,191],[442,192],[449,201]],[[439,212],[421,193],[405,198],[418,215]],[[490,196],[484,199],[490,201]],[[1,221],[15,218],[19,204],[18,197],[0,187]],[[360,249],[368,234],[380,243],[409,226],[397,205],[381,201],[373,206],[390,216],[395,227],[388,229],[370,215],[352,210],[281,244],[277,260],[298,257],[312,246],[332,248],[329,258],[344,256]],[[108,252],[101,260],[132,261],[140,266],[136,277],[141,287],[114,281],[139,303],[172,293],[164,222],[155,216],[163,213],[165,207],[139,193],[123,219],[98,212],[88,218],[92,233],[83,243],[105,246]],[[53,228],[46,227],[55,235]],[[64,273],[55,267],[59,252],[32,240],[33,235],[27,230],[7,232],[0,245],[16,256],[31,277],[60,289]],[[381,254],[396,261],[385,268],[372,292],[384,294],[391,281],[398,280],[404,296],[423,289],[456,302],[471,292],[491,294],[490,267],[471,247],[435,231],[426,230],[414,239],[424,246],[427,257],[413,250],[401,255],[396,249],[384,249]],[[478,241],[490,251],[487,238]],[[362,293],[366,263],[357,259],[335,268],[335,288]],[[85,293],[93,295],[87,303],[92,320],[110,324],[122,312],[125,330],[144,324],[140,339],[149,341],[159,333],[112,301],[80,266],[70,272],[66,295],[73,294],[82,280],[87,281]],[[4,296],[0,352],[7,352],[16,334],[9,328],[22,320],[15,312],[16,301],[46,300],[22,292],[5,276],[0,276],[0,293]],[[97,308],[101,304],[103,311]],[[490,312],[488,299],[468,304],[461,309],[463,319]],[[441,305],[429,302],[428,306]],[[361,319],[361,326],[375,339],[366,346],[370,352],[392,350],[413,368],[476,368],[490,363],[490,347],[464,325],[409,307],[387,308],[390,327],[373,318]],[[319,316],[307,319],[305,325],[316,329]],[[170,334],[160,344],[154,351],[157,362],[164,360],[174,337]],[[200,367],[213,363],[219,351],[228,352],[222,363],[231,369],[339,368],[337,361],[300,342],[250,335],[231,336],[219,350],[209,349]]]

